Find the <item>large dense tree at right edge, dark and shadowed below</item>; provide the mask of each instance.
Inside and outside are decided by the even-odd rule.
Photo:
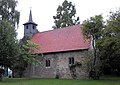
[[[97,47],[103,62],[103,72],[120,75],[120,10],[111,12]]]

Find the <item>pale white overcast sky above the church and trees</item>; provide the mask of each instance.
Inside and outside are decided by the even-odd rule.
[[[20,23],[17,28],[18,39],[24,35],[23,24],[28,21],[30,9],[32,10],[33,21],[38,24],[40,32],[52,30],[54,25],[53,16],[56,15],[58,5],[64,0],[18,0],[17,10],[20,11]],[[110,11],[120,8],[120,0],[68,0],[76,8],[76,17],[80,17],[80,22],[89,17],[103,14],[107,18]]]

